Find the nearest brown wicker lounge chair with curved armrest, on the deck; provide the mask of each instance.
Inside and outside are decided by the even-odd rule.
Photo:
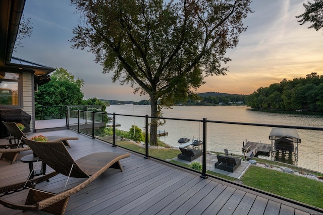
[[[46,211],[53,214],[64,214],[69,197],[86,187],[108,168],[116,168],[122,171],[120,160],[130,156],[127,154],[116,154],[111,152],[101,152],[87,155],[76,161],[73,160],[63,142],[38,142],[24,138],[26,144],[35,152],[39,158],[48,166],[55,170],[48,175],[31,179],[27,184],[40,183],[59,173],[69,177],[87,178],[75,187],[61,193],[50,193],[36,189],[34,186],[28,187],[29,193],[25,204],[12,203],[0,198],[0,203],[6,207],[20,210]],[[25,188],[25,183],[17,183],[0,187],[1,193],[13,192]]]

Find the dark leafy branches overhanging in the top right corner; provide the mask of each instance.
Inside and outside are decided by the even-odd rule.
[[[307,5],[303,4],[305,12],[296,18],[300,18],[297,22],[300,25],[306,22],[312,23],[308,28],[314,28],[316,31],[323,28],[323,0],[314,0],[314,3],[307,1]]]

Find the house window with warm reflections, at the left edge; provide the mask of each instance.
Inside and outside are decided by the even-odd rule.
[[[19,106],[19,73],[0,71],[0,105]]]

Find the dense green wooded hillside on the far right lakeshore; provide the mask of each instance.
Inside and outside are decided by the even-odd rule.
[[[260,87],[247,96],[247,105],[254,109],[323,111],[323,76],[311,73],[306,78]]]

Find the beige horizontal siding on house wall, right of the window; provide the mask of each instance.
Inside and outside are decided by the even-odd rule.
[[[22,73],[22,80],[23,80],[23,110],[31,115],[30,121],[30,130],[33,131],[35,126],[33,125],[34,122],[34,115],[33,115],[33,83],[32,83],[32,74],[31,73]]]

